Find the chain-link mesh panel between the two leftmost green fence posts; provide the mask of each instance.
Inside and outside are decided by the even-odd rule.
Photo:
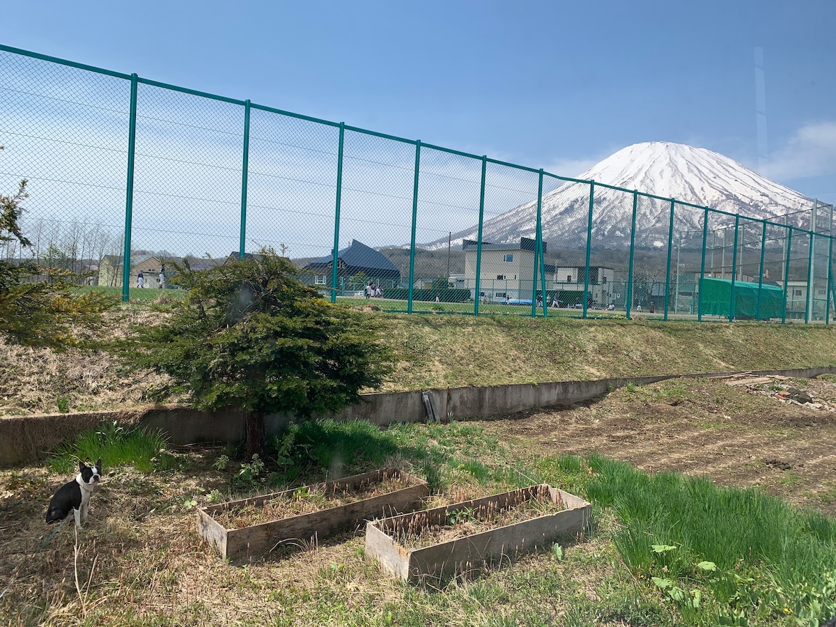
[[[199,268],[237,251],[244,109],[141,83],[136,101],[130,268],[167,288],[172,261]]]

